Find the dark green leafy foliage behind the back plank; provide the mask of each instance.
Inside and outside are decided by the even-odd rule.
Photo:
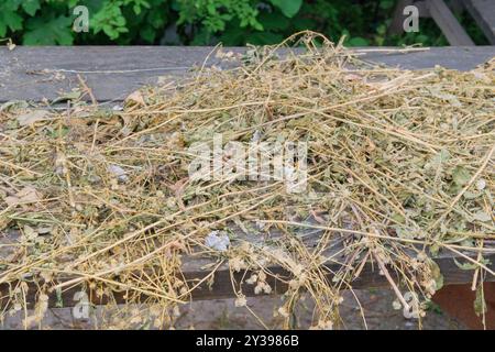
[[[346,45],[448,45],[436,24],[387,35],[396,0],[0,0],[0,37],[24,45],[274,44],[301,30]],[[72,30],[76,6],[89,9],[90,30]],[[461,21],[477,44],[483,34]]]

